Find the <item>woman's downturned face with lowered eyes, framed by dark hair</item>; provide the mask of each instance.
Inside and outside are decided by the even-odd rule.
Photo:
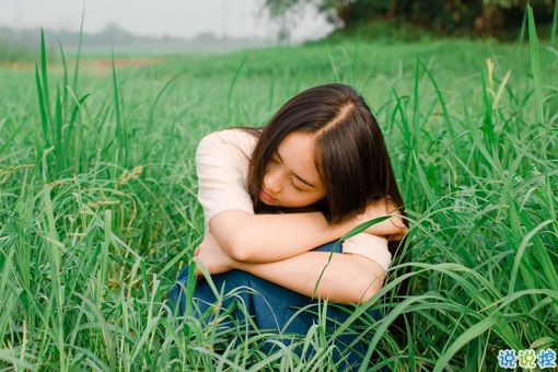
[[[314,135],[294,131],[279,144],[267,165],[259,200],[275,207],[307,207],[325,196],[314,165]]]

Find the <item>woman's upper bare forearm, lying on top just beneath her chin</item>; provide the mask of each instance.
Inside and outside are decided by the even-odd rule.
[[[329,225],[318,212],[251,214],[231,210],[213,217],[209,225],[219,246],[233,259],[270,263],[339,239],[357,222]]]

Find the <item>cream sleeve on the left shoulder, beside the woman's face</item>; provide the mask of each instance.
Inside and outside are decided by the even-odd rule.
[[[210,133],[196,150],[198,200],[204,208],[206,231],[209,231],[209,221],[219,212],[243,210],[254,213],[245,186],[248,158],[231,135],[234,133]]]

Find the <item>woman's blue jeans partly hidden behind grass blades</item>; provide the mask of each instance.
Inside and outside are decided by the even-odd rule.
[[[332,242],[314,251],[332,252],[335,249],[334,252],[340,253],[340,244],[335,245],[335,242]],[[170,293],[170,300],[178,307],[177,311],[179,314],[186,312],[186,294],[184,292],[187,288],[188,270],[189,267],[182,270],[178,275],[178,282],[173,287]],[[231,270],[219,275],[212,275],[211,279],[218,291],[224,289],[222,293],[225,294],[235,291],[235,295],[225,297],[226,300],[221,304],[221,309],[229,309],[231,305],[234,307],[234,301],[242,302],[242,307],[244,307],[245,311],[243,312],[236,306],[231,315],[242,322],[245,319],[245,314],[247,313],[259,330],[281,330],[282,334],[299,334],[304,336],[312,325],[318,323],[318,317],[321,317],[318,313],[324,310],[323,306],[318,306],[317,301],[258,278],[249,272]],[[210,313],[210,309],[216,301],[217,298],[211,286],[205,278],[198,278],[194,292],[195,315],[206,312]],[[305,310],[300,311],[303,307]],[[199,313],[196,314],[198,311]],[[295,314],[297,316],[294,316]],[[347,321],[352,314],[352,310],[350,306],[328,303],[326,314],[326,332],[332,334],[336,325]],[[375,319],[381,317],[377,310],[369,311],[367,315]],[[207,322],[210,321],[211,318],[207,319]],[[362,358],[367,353],[367,347],[361,340],[361,337],[371,338],[372,335],[367,336],[368,335],[362,336],[362,332],[349,327],[346,332],[336,337],[335,345],[337,348],[335,349],[336,351],[334,351],[334,360],[337,362],[341,357],[340,352],[344,354],[340,362],[341,370],[350,369],[362,363]],[[283,342],[288,344],[288,340],[283,340]],[[350,345],[349,352],[347,346]]]

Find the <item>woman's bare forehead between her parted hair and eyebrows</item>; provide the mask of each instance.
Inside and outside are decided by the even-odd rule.
[[[279,144],[277,153],[291,173],[318,186],[321,179],[314,164],[314,139],[313,133],[294,131]]]

